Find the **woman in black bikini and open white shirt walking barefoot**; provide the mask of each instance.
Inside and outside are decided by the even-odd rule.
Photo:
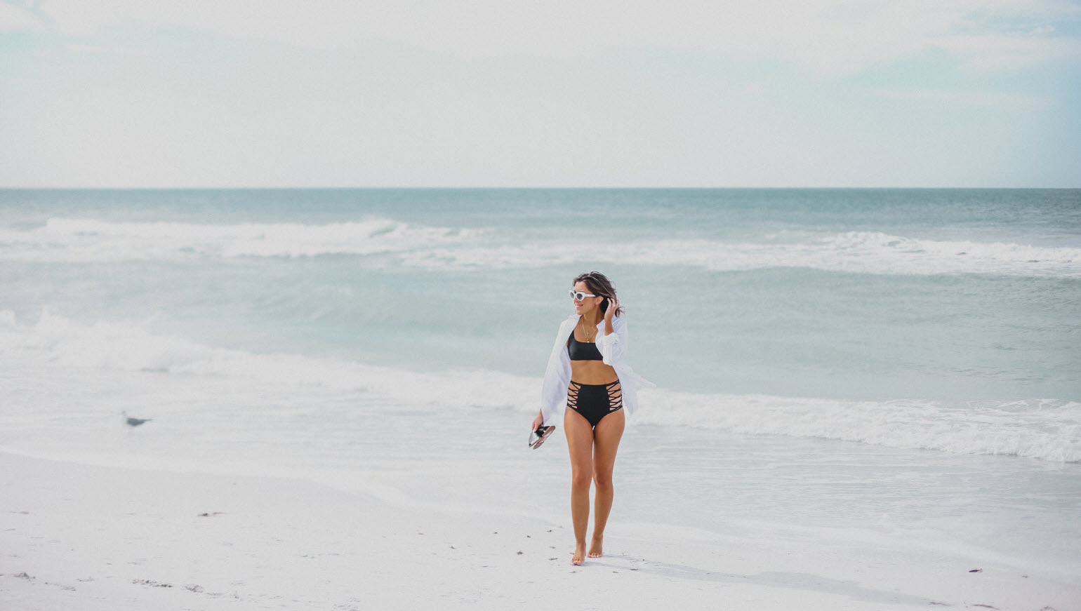
[[[593,495],[590,558],[602,555],[604,526],[612,510],[612,470],[626,418],[637,406],[636,391],[649,382],[624,363],[627,323],[615,287],[600,272],[574,279],[574,314],[559,327],[548,358],[540,413],[533,430],[562,417],[571,451],[571,517],[574,520],[573,565],[586,556],[589,484]],[[564,409],[570,407],[571,409]]]

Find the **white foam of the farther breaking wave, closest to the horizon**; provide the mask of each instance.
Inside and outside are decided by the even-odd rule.
[[[375,219],[332,225],[108,222],[50,219],[0,229],[0,260],[124,261],[236,257],[386,255],[431,269],[516,269],[580,262],[573,244],[495,229],[455,229]],[[760,242],[599,239],[596,261],[690,266],[716,271],[812,268],[882,274],[993,273],[1081,277],[1081,248],[935,241],[875,231],[778,234]]]

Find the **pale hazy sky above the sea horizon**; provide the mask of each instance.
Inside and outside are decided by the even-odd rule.
[[[0,0],[0,187],[1081,187],[1081,2]]]

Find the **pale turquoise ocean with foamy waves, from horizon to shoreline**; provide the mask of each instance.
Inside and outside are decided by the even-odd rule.
[[[657,384],[614,524],[1081,576],[1081,190],[0,190],[0,448],[569,522],[589,270]]]

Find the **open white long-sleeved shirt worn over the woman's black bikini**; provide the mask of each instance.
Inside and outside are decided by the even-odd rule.
[[[548,368],[544,374],[544,385],[540,389],[540,412],[545,424],[562,424],[563,410],[566,408],[566,386],[571,382],[571,355],[566,352],[566,340],[578,324],[578,314],[571,314],[559,326],[556,343],[551,347],[548,357]],[[604,320],[597,325],[597,348],[605,365],[611,365],[623,389],[623,408],[627,418],[635,413],[638,407],[638,390],[653,386],[630,368],[624,361],[627,355],[627,322],[620,316],[612,318],[612,334],[604,335]]]

